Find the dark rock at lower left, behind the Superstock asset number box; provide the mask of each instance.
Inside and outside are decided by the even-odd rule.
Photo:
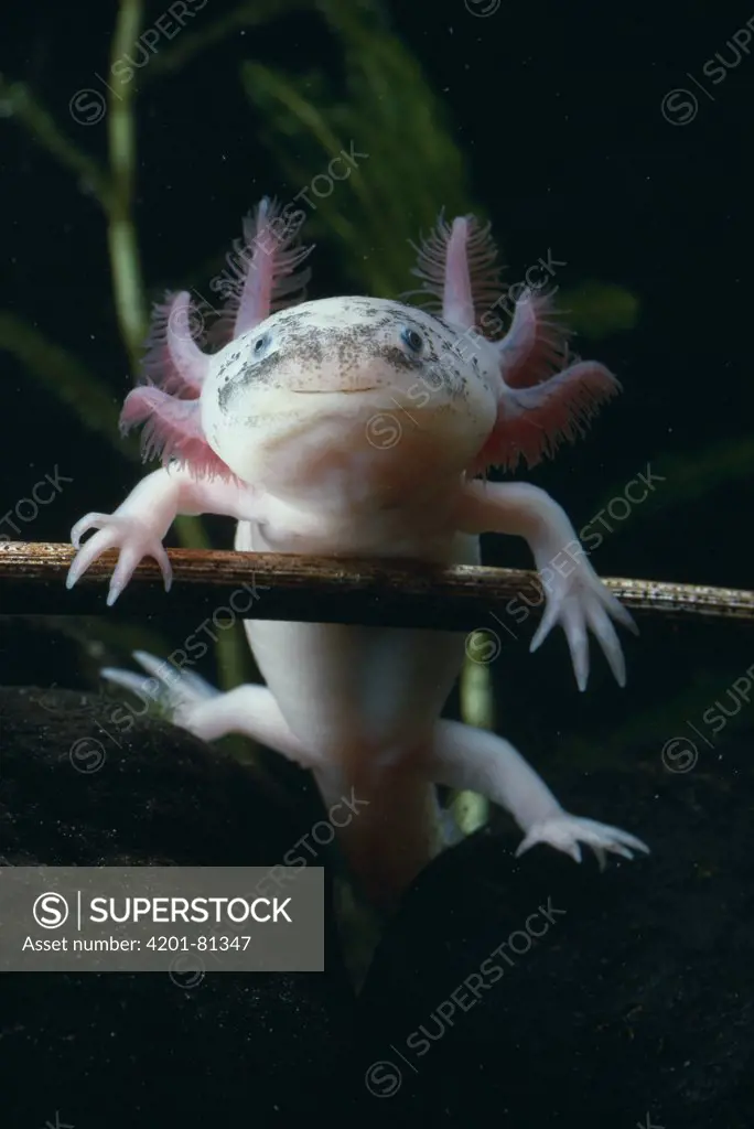
[[[272,866],[321,817],[308,785],[287,805],[188,734],[147,719],[126,732],[114,710],[0,690],[2,863]],[[161,973],[3,974],[2,1124],[266,1126],[328,1110],[352,999],[337,953],[330,922],[319,974],[209,972],[192,989]]]

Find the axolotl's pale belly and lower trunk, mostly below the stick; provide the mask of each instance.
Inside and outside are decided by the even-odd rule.
[[[323,552],[239,523],[235,548]],[[342,544],[328,546],[343,552]],[[407,548],[407,546],[406,546]],[[426,559],[424,546],[413,553]],[[365,555],[374,550],[365,546]],[[379,550],[375,553],[379,555]],[[441,559],[477,563],[479,541],[457,535]],[[316,598],[316,597],[313,597]],[[288,725],[328,768],[315,769],[325,805],[352,789],[341,831],[351,864],[376,901],[401,890],[442,846],[435,785],[422,771],[432,734],[464,660],[457,632],[247,620],[257,666]],[[349,831],[349,828],[351,829]]]

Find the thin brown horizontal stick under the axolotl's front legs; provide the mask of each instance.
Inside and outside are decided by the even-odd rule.
[[[0,613],[131,619],[217,613],[220,620],[243,615],[456,631],[503,628],[515,636],[524,611],[536,615],[543,605],[536,574],[518,569],[192,549],[172,549],[168,554],[174,571],[169,594],[157,564],[148,560],[107,609],[115,550],[95,561],[68,592],[71,545],[0,544]],[[620,577],[605,584],[633,612],[754,622],[752,592]]]

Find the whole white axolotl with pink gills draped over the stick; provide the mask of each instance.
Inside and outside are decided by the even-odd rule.
[[[620,385],[593,361],[559,370],[567,335],[542,292],[519,297],[501,340],[479,331],[503,294],[489,225],[440,217],[424,240],[414,273],[437,316],[380,298],[304,300],[310,272],[299,266],[312,248],[268,199],[244,237],[219,351],[205,352],[191,331],[188,294],[156,307],[147,382],[128,395],[121,425],[146,425],[144,457],[160,455],[163,469],[114,514],[73,526],[68,587],[116,546],[108,605],[144,557],[158,561],[168,589],[161,541],[177,514],[235,518],[235,548],[248,552],[477,563],[480,534],[517,534],[549,576],[531,649],[560,623],[584,690],[591,631],[623,685],[612,620],[635,630],[633,621],[564,511],[534,485],[480,478],[519,456],[532,465],[572,439]],[[567,546],[570,567],[553,569]],[[356,791],[342,847],[375,904],[394,904],[444,846],[439,784],[506,807],[524,832],[518,855],[543,842],[580,861],[587,843],[602,866],[605,851],[648,850],[566,812],[503,738],[440,719],[463,633],[264,620],[245,628],[266,686],[219,693],[193,672],[137,658],[177,725],[205,741],[247,734],[310,769],[327,805]],[[132,673],[103,673],[139,689]]]

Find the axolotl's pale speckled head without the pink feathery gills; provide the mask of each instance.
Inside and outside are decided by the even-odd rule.
[[[404,488],[461,475],[494,427],[494,357],[464,357],[431,314],[325,298],[268,317],[212,357],[207,441],[243,481],[300,492],[331,475]]]

